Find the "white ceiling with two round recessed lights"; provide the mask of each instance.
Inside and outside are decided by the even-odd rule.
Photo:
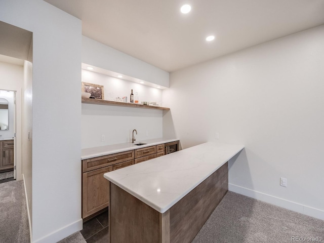
[[[168,72],[324,24],[324,0],[45,1],[82,19],[85,36]]]

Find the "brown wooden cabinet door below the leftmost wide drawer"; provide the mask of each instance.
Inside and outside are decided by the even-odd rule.
[[[82,218],[86,218],[109,206],[109,181],[103,174],[112,171],[112,166],[83,173]]]

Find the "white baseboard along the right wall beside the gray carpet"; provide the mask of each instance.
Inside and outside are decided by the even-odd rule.
[[[294,203],[293,201],[289,201],[286,199],[282,199],[276,196],[268,195],[259,191],[251,190],[245,187],[233,185],[228,183],[228,190],[236,192],[238,194],[242,194],[245,196],[249,196],[260,201],[264,201],[265,203],[273,204],[281,208],[289,209],[295,211],[297,213],[305,214],[317,219],[324,220],[324,211],[319,209],[314,209],[302,204]]]

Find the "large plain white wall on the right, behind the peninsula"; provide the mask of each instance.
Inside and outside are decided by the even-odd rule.
[[[323,57],[322,25],[173,72],[164,126],[184,148],[245,145],[231,190],[324,219]]]

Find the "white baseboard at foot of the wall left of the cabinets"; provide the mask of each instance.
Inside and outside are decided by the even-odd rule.
[[[65,237],[82,230],[83,227],[83,221],[82,219],[79,219],[69,225],[66,225],[65,227],[60,228],[59,230],[56,230],[48,235],[45,235],[44,237],[37,239],[35,241],[31,241],[33,243],[49,243],[49,242],[58,242],[61,239],[64,239]]]

